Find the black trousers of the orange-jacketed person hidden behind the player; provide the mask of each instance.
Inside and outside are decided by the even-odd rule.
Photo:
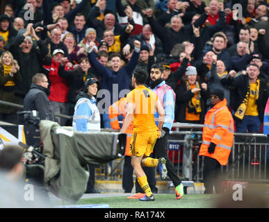
[[[152,189],[152,192],[156,194],[158,192],[155,178],[156,167],[142,167],[142,169],[147,176],[147,182],[149,183],[150,189]],[[124,157],[122,188],[125,193],[131,193],[131,190],[133,189],[133,167],[131,165],[131,157],[128,155]],[[136,193],[144,193],[138,183],[138,179],[136,179]]]

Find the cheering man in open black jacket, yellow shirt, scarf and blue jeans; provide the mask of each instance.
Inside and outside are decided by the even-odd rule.
[[[236,87],[234,96],[234,120],[236,132],[259,133],[263,121],[264,109],[268,99],[267,81],[259,76],[259,67],[255,64],[247,66],[247,74],[236,76],[231,70],[225,83]]]

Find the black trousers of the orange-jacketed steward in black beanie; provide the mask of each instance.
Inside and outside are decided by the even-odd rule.
[[[204,156],[204,194],[212,194],[213,186],[216,193],[221,192],[221,165],[218,160]]]

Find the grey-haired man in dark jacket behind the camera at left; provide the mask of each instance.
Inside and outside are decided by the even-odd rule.
[[[39,120],[46,119],[56,121],[54,112],[52,112],[49,103],[48,86],[49,82],[45,74],[35,74],[32,78],[31,88],[24,98],[24,110],[38,111]],[[34,136],[37,136],[36,130],[38,130],[38,124],[39,121],[26,121],[26,123],[24,123],[24,132],[28,145],[39,146],[40,140],[34,138]]]

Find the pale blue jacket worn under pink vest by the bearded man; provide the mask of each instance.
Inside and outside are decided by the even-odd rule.
[[[161,87],[165,84],[165,80],[157,85],[153,92],[156,92],[158,87]],[[169,132],[172,129],[172,124],[174,122],[174,95],[172,94],[172,90],[168,89],[168,91],[163,96],[163,109],[165,110],[165,121],[163,122],[163,127],[168,128]],[[154,119],[158,119],[158,112],[154,112]],[[156,126],[158,126],[158,121],[155,121]]]

